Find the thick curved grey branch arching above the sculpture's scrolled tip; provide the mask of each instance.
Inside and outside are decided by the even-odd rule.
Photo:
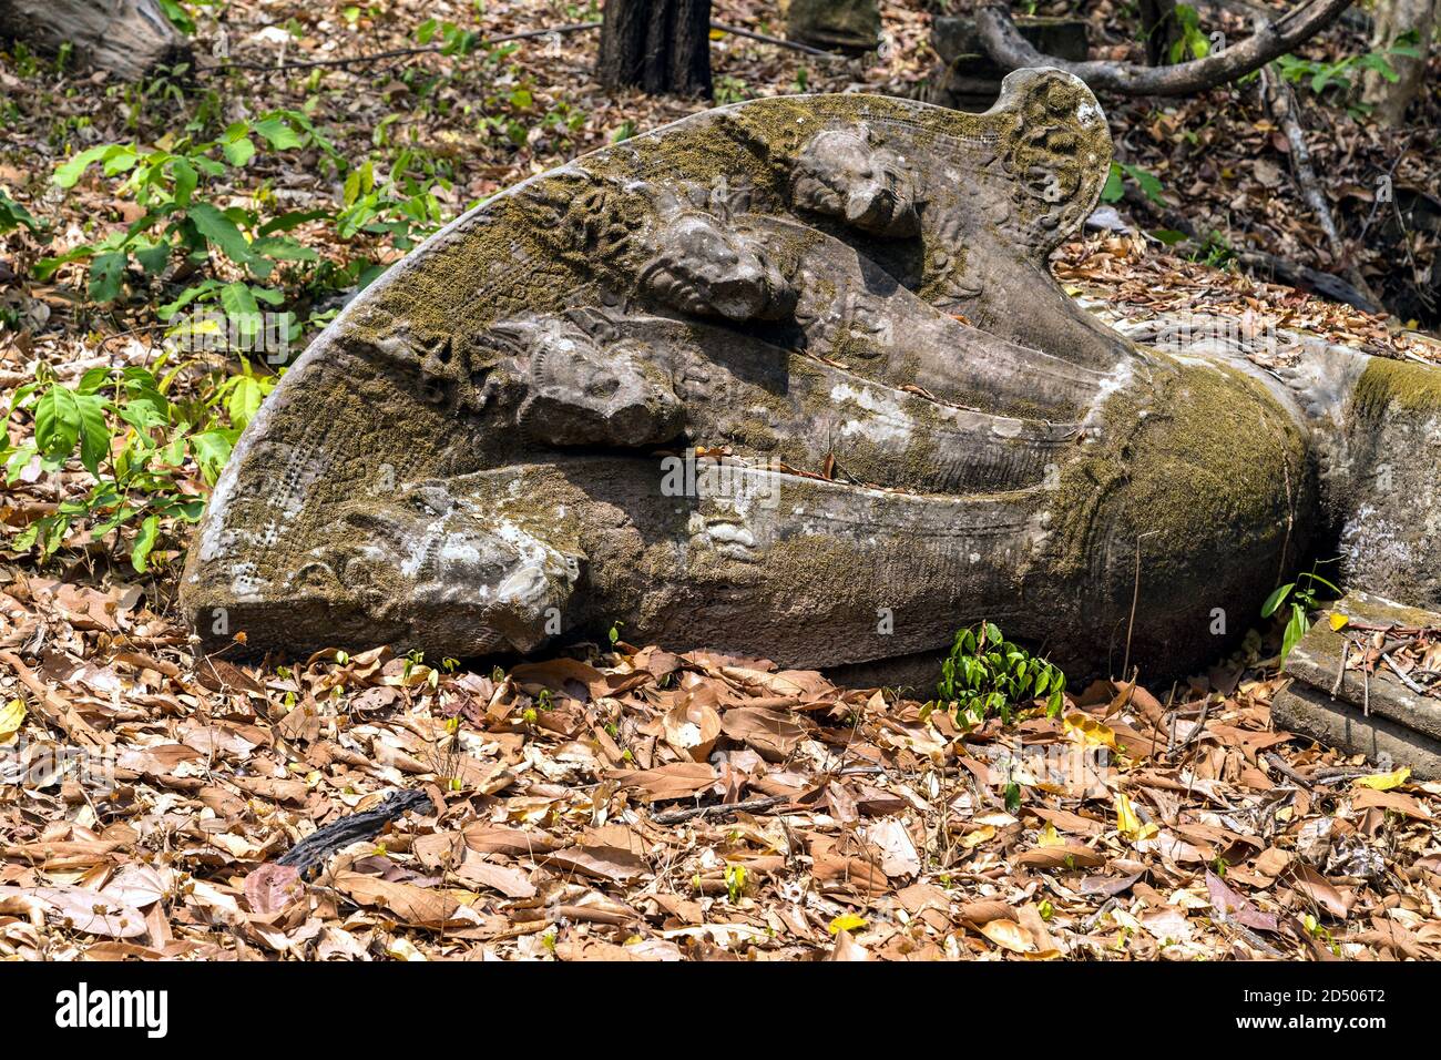
[[[1352,0],[1307,0],[1275,22],[1258,19],[1245,40],[1174,66],[1143,66],[1134,62],[1089,59],[1068,62],[1038,52],[1016,29],[1004,6],[976,13],[981,43],[991,61],[1004,69],[1055,66],[1085,81],[1097,91],[1123,95],[1193,95],[1229,84],[1294,50],[1340,17]]]

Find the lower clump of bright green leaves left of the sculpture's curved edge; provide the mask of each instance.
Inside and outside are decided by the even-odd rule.
[[[173,399],[184,366],[163,372],[161,358],[153,369],[92,368],[73,385],[42,366],[35,382],[14,392],[3,425],[29,414],[32,430],[0,449],[6,485],[14,485],[35,460],[50,474],[78,461],[91,485],[14,534],[10,549],[33,549],[46,561],[78,525],[88,526],[94,539],[124,528],[117,542],[127,545],[131,565],[144,573],[166,526],[199,521],[205,498],[192,487],[195,473],[215,485],[277,376],[255,375],[244,363],[241,375],[212,376],[200,398]],[[9,438],[9,430],[0,438]]]

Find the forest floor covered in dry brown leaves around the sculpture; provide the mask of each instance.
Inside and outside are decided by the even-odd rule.
[[[483,37],[594,17],[566,3],[484,9]],[[762,9],[726,0],[716,17],[767,29]],[[886,4],[883,61],[722,37],[718,98],[909,94],[934,65],[916,9]],[[427,19],[470,17],[444,0],[379,14],[258,0],[199,10],[200,72],[186,88],[0,56],[0,389],[22,407],[0,500],[0,956],[1441,956],[1441,785],[1274,731],[1284,676],[1271,627],[1156,695],[1146,675],[1095,682],[1061,717],[973,730],[764,659],[624,640],[486,673],[366,645],[264,663],[196,655],[174,609],[189,524],[272,376],[223,350],[167,349],[179,317],[159,307],[187,294],[226,312],[284,306],[303,343],[357,283],[473,202],[702,105],[601,92],[594,32],[363,66],[245,65],[411,46]],[[1334,30],[1307,55],[1331,62],[1356,42]],[[1355,237],[1378,173],[1434,193],[1441,157],[1434,134],[1376,133],[1336,95],[1303,100]],[[1241,247],[1334,264],[1254,85],[1105,102],[1118,157],[1216,235],[1169,249],[1140,229],[1071,244],[1055,270],[1074,294],[1121,319],[1221,313],[1441,361],[1406,322],[1216,267]],[[1434,88],[1422,112],[1437,128]],[[99,144],[134,150],[71,187],[52,182]],[[310,257],[277,249],[258,277],[202,239],[193,255],[166,247],[147,273],[138,257],[117,268],[104,241],[130,226],[157,242],[187,235],[151,218],[164,196],[127,186],[156,163],[173,192],[157,151],[210,159],[195,202],[252,248],[284,234]],[[1136,212],[1153,224],[1144,203]],[[212,251],[226,238],[215,232]],[[1429,268],[1435,241],[1408,238],[1406,268]],[[1396,252],[1355,252],[1378,284],[1398,270]],[[101,411],[102,451],[84,451],[84,431],[73,457],[24,450],[43,388],[82,392],[94,369],[121,381]],[[137,417],[153,443],[138,449]],[[140,457],[144,476],[130,467]],[[318,874],[278,864],[402,787],[431,805]]]

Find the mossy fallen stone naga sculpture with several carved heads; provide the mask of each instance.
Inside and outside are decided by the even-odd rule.
[[[984,616],[1115,669],[1134,610],[1131,658],[1176,672],[1337,534],[1437,603],[1441,372],[1101,326],[1046,258],[1110,154],[1032,69],[984,114],[755,100],[526,180],[277,387],[190,551],[196,629],[486,655],[621,622],[833,668]]]

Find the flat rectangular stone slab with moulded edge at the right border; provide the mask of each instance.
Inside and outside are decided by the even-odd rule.
[[[1435,611],[1359,590],[1347,593],[1331,610],[1372,624],[1441,626],[1441,614]],[[1285,662],[1295,681],[1271,704],[1275,727],[1349,754],[1365,754],[1378,764],[1389,761],[1388,769],[1409,766],[1422,780],[1441,779],[1441,699],[1417,695],[1385,668],[1369,681],[1360,671],[1346,671],[1337,688],[1344,637],[1331,629],[1329,619],[1321,616]]]

